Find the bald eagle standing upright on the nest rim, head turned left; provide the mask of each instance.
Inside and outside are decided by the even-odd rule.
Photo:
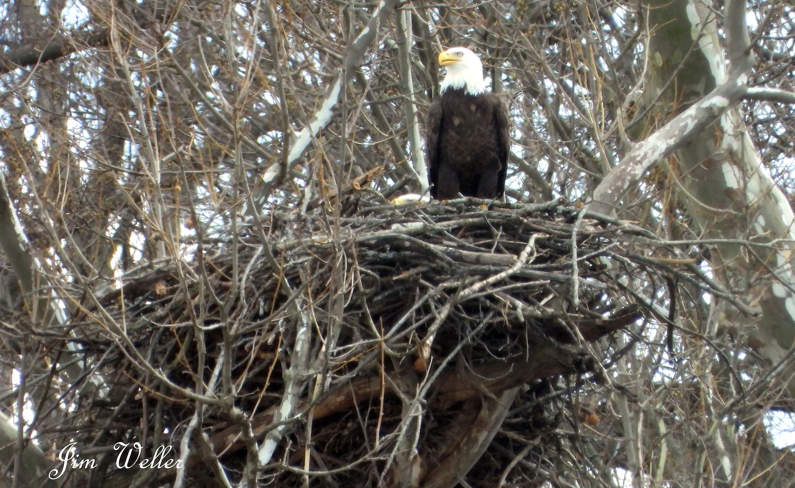
[[[483,64],[467,48],[440,53],[447,68],[440,95],[428,110],[425,146],[431,196],[498,198],[505,188],[510,148],[508,110],[487,93]]]

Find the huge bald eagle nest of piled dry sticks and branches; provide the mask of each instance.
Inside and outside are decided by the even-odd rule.
[[[712,286],[653,234],[556,202],[342,207],[273,211],[88,302],[70,334],[106,389],[53,445],[190,436],[191,486],[534,486],[603,455],[609,426],[574,393],[620,388],[620,330],[665,323],[674,279]]]

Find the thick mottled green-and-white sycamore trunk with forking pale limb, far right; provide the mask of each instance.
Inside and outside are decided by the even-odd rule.
[[[657,101],[657,107],[648,120],[677,110],[677,104],[690,105],[638,143],[596,189],[588,210],[614,211],[627,189],[677,151],[683,175],[681,198],[702,237],[750,238],[756,242],[795,240],[795,215],[762,165],[738,108],[746,96],[791,103],[795,95],[765,88],[749,90],[745,86],[751,68],[745,2],[727,2],[723,11],[727,19],[728,63],[712,4],[696,0],[650,4],[654,28],[649,45],[650,77],[644,95],[647,103]],[[672,34],[677,32],[675,29],[685,28],[691,34],[689,39]],[[669,83],[676,92],[663,92],[670,67],[679,63],[682,65],[676,82]],[[704,96],[709,87],[714,88]],[[758,312],[755,319],[743,318],[744,331],[750,332],[752,345],[767,362],[778,364],[795,343],[792,246],[779,243],[767,254],[750,254],[736,243],[719,245],[716,250],[713,268],[723,275],[727,285],[747,290],[747,304]],[[790,368],[788,372],[791,376]],[[787,381],[789,390],[795,393],[795,381]]]

